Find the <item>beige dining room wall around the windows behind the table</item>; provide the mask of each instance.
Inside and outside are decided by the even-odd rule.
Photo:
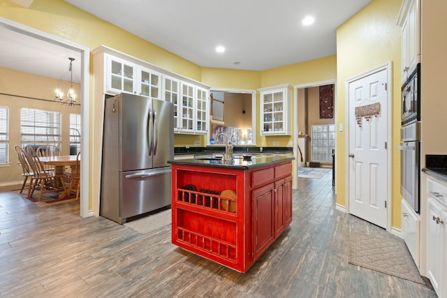
[[[31,73],[0,67],[0,105],[9,108],[9,148],[10,166],[0,167],[0,184],[22,183],[22,167],[18,164],[14,146],[21,144],[20,108],[61,112],[62,154],[70,154],[70,113],[80,114],[80,106],[61,105],[54,102],[54,89],[68,90],[70,82],[43,77]],[[79,84],[73,84],[76,94],[80,94]],[[29,98],[31,97],[31,98]],[[32,98],[39,98],[36,100]]]

